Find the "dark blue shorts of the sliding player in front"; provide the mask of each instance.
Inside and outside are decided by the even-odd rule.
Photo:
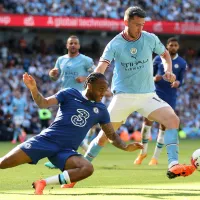
[[[65,149],[40,135],[37,135],[19,145],[32,160],[30,164],[37,164],[39,160],[47,157],[61,171],[64,170],[67,159],[71,156],[82,156],[73,149]]]

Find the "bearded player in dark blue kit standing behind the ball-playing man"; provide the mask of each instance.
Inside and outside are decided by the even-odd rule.
[[[165,102],[167,102],[174,110],[176,107],[176,99],[177,99],[177,88],[182,85],[184,73],[187,68],[186,61],[178,55],[179,43],[178,40],[174,37],[169,38],[167,40],[166,45],[169,54],[172,59],[172,71],[176,75],[176,81],[173,83],[169,83],[163,79],[164,75],[164,67],[160,56],[156,56],[153,65],[154,65],[154,81],[156,86],[156,94]],[[142,127],[142,143],[144,145],[144,149],[140,152],[138,157],[136,158],[134,164],[140,165],[143,159],[147,156],[147,148],[148,148],[148,140],[151,136],[151,126],[152,121],[145,118]],[[165,127],[160,125],[157,144],[154,151],[154,155],[149,162],[149,165],[157,165],[158,158],[162,151],[162,147],[164,146],[164,132]]]

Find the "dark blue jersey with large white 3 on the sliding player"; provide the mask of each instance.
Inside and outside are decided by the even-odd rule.
[[[93,125],[110,122],[103,103],[87,100],[76,89],[60,90],[55,97],[60,104],[56,118],[40,136],[60,147],[77,150]]]

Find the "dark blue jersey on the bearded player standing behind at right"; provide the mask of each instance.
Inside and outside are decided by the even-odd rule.
[[[156,56],[153,60],[154,66],[154,75],[164,75],[164,66],[160,56]],[[180,81],[181,86],[184,78],[184,73],[187,68],[186,61],[178,56],[178,54],[172,59],[172,71],[176,75],[176,80]],[[177,88],[172,88],[171,83],[161,79],[160,81],[155,82],[156,86],[156,93],[160,98],[169,98],[169,99],[176,99],[176,92]]]

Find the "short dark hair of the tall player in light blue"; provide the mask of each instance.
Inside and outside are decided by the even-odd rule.
[[[133,19],[134,16],[145,18],[146,17],[146,12],[142,8],[140,8],[139,6],[129,7],[125,11],[124,20]]]

